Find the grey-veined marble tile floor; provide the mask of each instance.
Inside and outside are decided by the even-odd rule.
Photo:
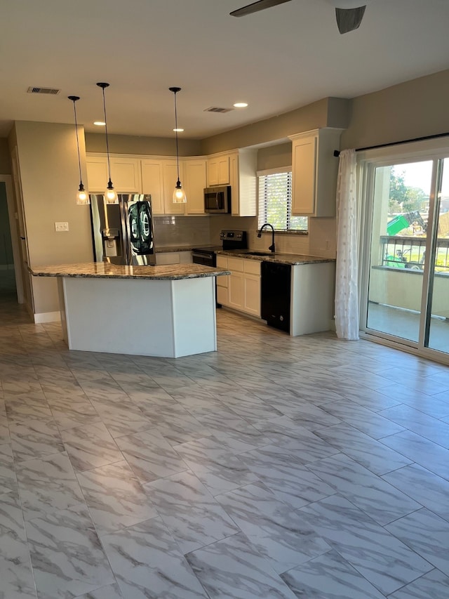
[[[0,599],[448,599],[449,368],[217,328],[69,352],[0,300]]]

